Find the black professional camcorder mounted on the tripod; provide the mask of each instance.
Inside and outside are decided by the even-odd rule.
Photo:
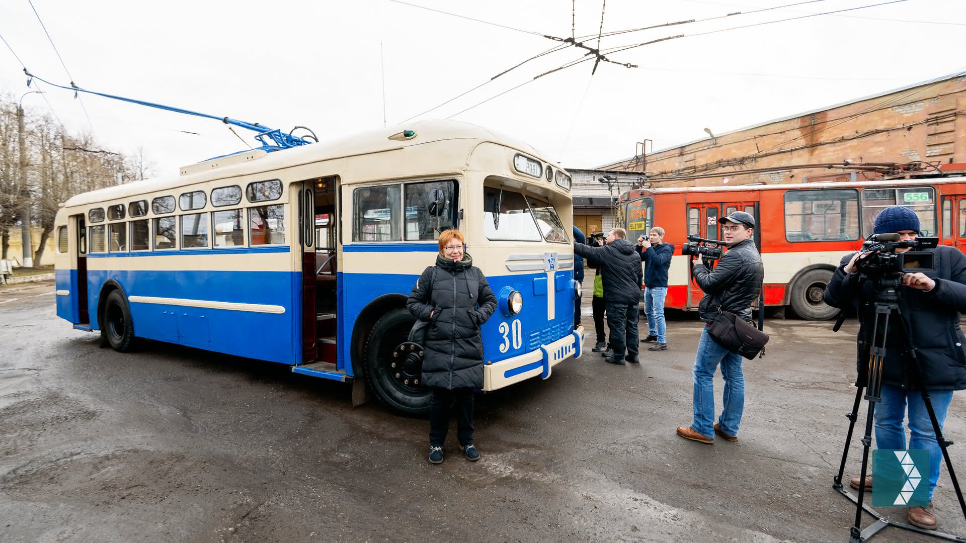
[[[899,241],[898,234],[876,234],[862,243],[862,252],[869,256],[856,261],[860,273],[869,277],[901,275],[902,273],[930,272],[933,254],[929,251],[939,244],[939,238],[917,238]],[[897,253],[895,249],[909,247],[906,252]]]

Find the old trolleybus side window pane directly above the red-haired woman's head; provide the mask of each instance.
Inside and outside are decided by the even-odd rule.
[[[406,241],[439,240],[456,226],[456,182],[408,183],[403,190]]]

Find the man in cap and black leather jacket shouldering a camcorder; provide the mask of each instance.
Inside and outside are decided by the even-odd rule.
[[[678,426],[682,438],[714,443],[714,432],[729,442],[738,441],[738,426],[745,409],[745,376],[741,355],[725,349],[708,333],[708,326],[721,311],[730,311],[746,321],[752,320],[752,303],[761,292],[765,269],[754,248],[754,217],[734,212],[720,220],[727,252],[715,269],[708,270],[700,256],[692,262],[691,273],[704,297],[697,306],[698,316],[707,323],[701,330],[695,357],[695,418],[691,426]],[[718,422],[715,415],[714,376],[718,364],[725,380],[724,408]]]

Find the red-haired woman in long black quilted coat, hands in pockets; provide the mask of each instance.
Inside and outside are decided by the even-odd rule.
[[[483,339],[480,327],[497,309],[486,276],[464,252],[463,234],[440,234],[436,266],[427,268],[412,289],[406,307],[430,323],[426,330],[422,376],[433,397],[429,407],[429,461],[442,462],[449,411],[456,402],[457,438],[469,460],[479,460],[473,445],[473,388],[483,387]]]

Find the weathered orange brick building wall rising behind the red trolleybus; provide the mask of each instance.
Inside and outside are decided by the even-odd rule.
[[[944,76],[753,127],[631,157],[605,170],[647,171],[652,186],[808,183],[870,175],[842,168],[781,166],[842,162],[966,161],[966,76]],[[778,168],[760,173],[742,170]],[[720,174],[686,179],[701,174]]]

